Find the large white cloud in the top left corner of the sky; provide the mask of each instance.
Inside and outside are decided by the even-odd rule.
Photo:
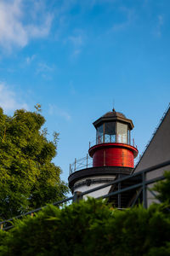
[[[31,12],[35,9],[35,18],[26,23],[29,9],[23,0],[0,1],[0,45],[5,49],[13,46],[25,47],[31,38],[42,38],[48,35],[53,15],[41,15],[42,22],[37,25],[36,3],[31,3]]]

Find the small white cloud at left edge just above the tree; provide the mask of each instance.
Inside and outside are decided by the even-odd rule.
[[[8,86],[3,83],[0,83],[0,107],[6,113],[19,108],[28,109],[27,104],[21,102],[19,96],[13,90],[8,89]]]

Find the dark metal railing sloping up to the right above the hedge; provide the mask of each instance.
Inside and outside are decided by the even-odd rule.
[[[101,195],[97,199],[100,199],[100,198],[101,199],[105,199],[105,198],[110,198],[113,195],[117,195],[118,196],[118,202],[119,202],[120,199],[121,199],[122,193],[127,192],[127,191],[132,190],[132,189],[138,189],[138,193],[137,193],[136,197],[134,198],[134,200],[133,200],[133,202],[131,204],[131,207],[133,207],[135,205],[136,201],[138,201],[139,195],[142,192],[142,195],[143,195],[143,206],[145,208],[147,208],[147,194],[146,194],[146,191],[147,191],[147,189],[150,190],[147,186],[149,184],[161,181],[161,180],[165,179],[165,177],[163,175],[161,175],[159,177],[154,177],[154,178],[151,178],[151,179],[147,179],[146,178],[146,174],[149,173],[149,172],[154,172],[155,170],[160,169],[160,168],[165,167],[165,166],[170,166],[170,160],[168,160],[166,162],[163,162],[163,163],[161,163],[159,165],[156,165],[156,166],[150,166],[149,168],[144,169],[141,172],[133,173],[131,175],[128,175],[127,177],[118,178],[118,179],[112,181],[111,183],[106,183],[104,185],[100,185],[97,188],[88,189],[85,192],[76,192],[71,197],[65,198],[62,201],[54,202],[53,205],[59,207],[61,204],[66,203],[68,201],[73,201],[73,202],[74,201],[79,201],[79,200],[81,200],[83,198],[84,195],[89,195],[90,193],[93,193],[94,191],[97,191],[99,189],[104,189],[104,188],[106,188],[108,186],[116,185],[117,184],[118,189],[116,191],[113,191],[113,192],[111,192],[109,194]],[[141,177],[141,182],[133,184],[133,185],[130,185],[127,188],[121,189],[121,186],[119,184],[121,184],[121,183],[123,183],[125,181],[129,181],[133,177]],[[152,190],[150,190],[150,193],[152,195],[156,196],[155,193]],[[45,206],[45,207],[47,207],[47,206]],[[30,212],[26,212],[25,214],[22,214],[22,215],[14,217],[14,218],[10,218],[10,219],[7,219],[7,220],[4,220],[4,221],[0,222],[1,230],[9,230],[9,229],[13,228],[14,224],[11,224],[11,223],[13,223],[15,219],[23,218],[23,217],[25,217],[27,215],[31,215],[31,217],[33,217],[34,213],[41,211],[42,208],[44,208],[44,207],[39,207],[39,208],[37,208],[35,210],[32,210]],[[120,208],[120,205],[118,205],[118,208]]]

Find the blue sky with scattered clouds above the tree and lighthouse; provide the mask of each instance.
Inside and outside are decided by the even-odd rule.
[[[170,102],[169,69],[169,0],[0,1],[0,106],[42,104],[65,181],[113,102],[142,153]]]

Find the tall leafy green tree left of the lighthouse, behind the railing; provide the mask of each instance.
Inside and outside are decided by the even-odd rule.
[[[65,198],[68,188],[52,162],[58,134],[48,141],[39,113],[20,109],[10,117],[0,108],[0,218],[14,217]]]

